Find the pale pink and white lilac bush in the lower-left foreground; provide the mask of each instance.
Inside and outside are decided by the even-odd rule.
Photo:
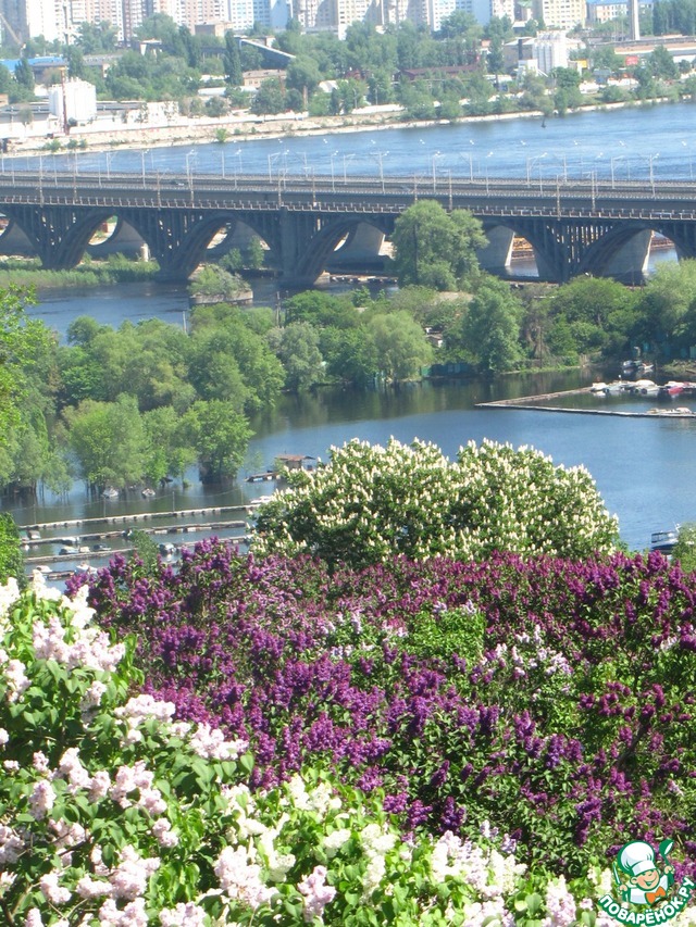
[[[243,741],[134,694],[133,640],[112,644],[85,592],[0,587],[9,927],[500,927],[543,907],[488,827],[403,842],[376,797],[312,769],[252,794]]]

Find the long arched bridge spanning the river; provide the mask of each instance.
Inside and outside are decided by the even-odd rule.
[[[660,180],[554,180],[269,175],[194,176],[0,173],[0,214],[8,220],[0,252],[37,254],[45,267],[79,263],[95,233],[114,216],[119,234],[145,242],[160,276],[185,280],[220,242],[246,228],[268,248],[285,286],[309,286],[361,233],[390,236],[419,200],[470,210],[488,246],[482,266],[502,273],[513,236],[534,250],[539,278],[563,283],[579,274],[638,283],[652,231],[696,258],[696,186]],[[220,248],[220,245],[217,245]],[[337,250],[338,249],[338,250]]]

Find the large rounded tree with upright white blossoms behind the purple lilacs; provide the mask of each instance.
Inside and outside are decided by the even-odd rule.
[[[288,475],[257,516],[252,549],[362,566],[403,553],[482,560],[493,551],[583,558],[611,550],[617,519],[583,467],[531,448],[350,441],[314,473]]]

